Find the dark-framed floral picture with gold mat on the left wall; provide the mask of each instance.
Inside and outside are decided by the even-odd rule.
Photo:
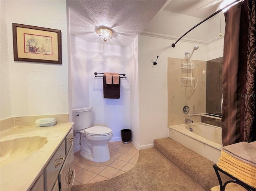
[[[61,31],[12,24],[15,61],[62,64]]]

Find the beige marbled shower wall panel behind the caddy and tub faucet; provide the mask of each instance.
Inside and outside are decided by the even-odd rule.
[[[185,124],[185,118],[200,122],[200,113],[206,112],[206,61],[193,60],[198,71],[196,89],[181,86],[181,63],[190,63],[188,59],[168,58],[168,126]],[[196,69],[193,69],[196,77]],[[196,79],[194,80],[196,83]],[[194,85],[192,86],[194,87]],[[188,114],[182,112],[183,106],[188,105]],[[193,115],[194,113],[198,115]]]

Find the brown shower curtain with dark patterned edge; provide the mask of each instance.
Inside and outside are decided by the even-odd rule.
[[[222,143],[226,146],[256,140],[255,0],[236,4],[224,15]]]

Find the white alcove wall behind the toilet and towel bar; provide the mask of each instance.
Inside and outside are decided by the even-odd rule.
[[[132,50],[134,49],[134,50]],[[130,51],[136,47],[88,43],[71,35],[72,107],[93,106],[92,126],[112,129],[111,141],[121,140],[121,130],[130,129]],[[94,72],[125,73],[120,80],[120,99],[103,97],[101,77]],[[98,74],[102,76],[102,74]]]

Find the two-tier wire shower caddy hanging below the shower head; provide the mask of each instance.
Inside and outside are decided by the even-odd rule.
[[[186,62],[181,64],[181,86],[191,86],[194,84],[195,78],[188,77],[188,76],[191,76],[191,72],[192,72],[191,69],[194,69],[194,68],[195,68],[194,63]],[[191,80],[192,80],[192,83],[191,83]]]

